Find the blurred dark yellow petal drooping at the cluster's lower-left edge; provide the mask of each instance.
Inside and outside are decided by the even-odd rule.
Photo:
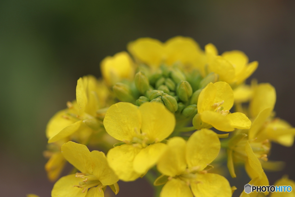
[[[45,164],[45,170],[49,180],[55,181],[59,177],[63,167],[65,166],[65,162],[66,160],[61,152],[56,152],[50,157],[48,162]]]

